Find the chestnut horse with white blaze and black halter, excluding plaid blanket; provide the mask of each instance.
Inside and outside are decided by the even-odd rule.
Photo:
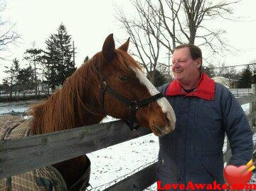
[[[142,68],[127,53],[128,40],[115,49],[113,34],[102,51],[84,62],[63,86],[45,101],[30,108],[33,135],[98,124],[109,115],[134,123],[163,136],[175,128],[175,114],[169,102],[144,76]],[[85,171],[82,155],[53,165],[68,188]]]

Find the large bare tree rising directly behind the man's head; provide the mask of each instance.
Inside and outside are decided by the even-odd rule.
[[[153,9],[153,3],[146,0]],[[215,29],[212,22],[218,18],[230,19],[232,6],[238,1],[158,0],[161,21],[160,42],[173,53],[176,44],[191,43],[208,46],[213,53],[228,49],[222,39],[223,29]]]

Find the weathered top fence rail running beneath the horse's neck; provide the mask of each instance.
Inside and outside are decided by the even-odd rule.
[[[0,178],[25,173],[151,133],[131,131],[122,121],[0,142]],[[17,165],[18,164],[18,165]]]

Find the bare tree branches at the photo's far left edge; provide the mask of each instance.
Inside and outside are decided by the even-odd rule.
[[[4,1],[0,0],[0,52],[9,50],[9,45],[16,44],[20,36],[14,31],[14,24],[8,19],[4,20],[2,14],[6,9]],[[3,54],[0,55],[1,60],[5,60]]]

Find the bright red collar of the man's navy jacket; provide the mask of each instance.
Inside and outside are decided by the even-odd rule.
[[[166,96],[186,95],[188,97],[200,97],[207,100],[213,100],[214,93],[215,82],[204,73],[200,77],[198,87],[193,92],[188,94],[184,92],[178,80],[171,82],[166,90]]]

